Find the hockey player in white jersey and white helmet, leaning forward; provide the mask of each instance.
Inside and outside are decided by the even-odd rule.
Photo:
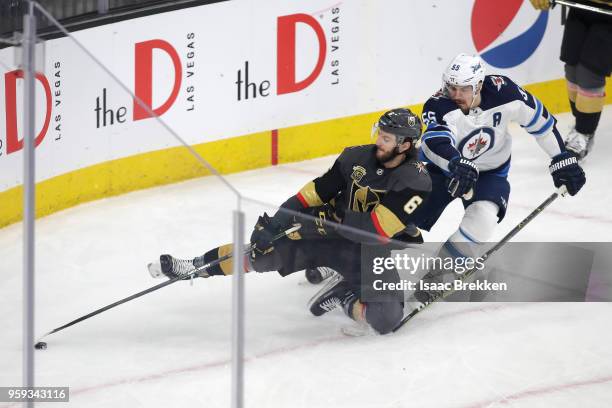
[[[551,158],[556,187],[565,185],[573,196],[584,185],[585,175],[574,153],[565,149],[552,114],[508,77],[485,75],[480,57],[459,54],[442,80],[442,89],[423,107],[421,160],[427,162],[433,191],[418,226],[429,230],[446,206],[460,198],[465,214],[441,256],[474,256],[506,213],[510,122],[531,134]]]

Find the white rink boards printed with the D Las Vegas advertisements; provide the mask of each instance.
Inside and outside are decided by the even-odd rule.
[[[36,76],[37,181],[178,146],[151,112],[201,144],[423,102],[446,58],[476,52],[472,6],[449,3],[456,15],[429,1],[245,0],[75,32],[136,98],[70,39],[49,40]],[[392,12],[382,19],[381,10]],[[534,19],[519,13],[513,27]],[[431,21],[454,27],[452,46],[439,36],[419,41]],[[530,61],[556,58],[541,41],[512,68],[518,80],[532,75]],[[21,184],[23,75],[13,54],[0,50],[0,193]],[[538,75],[532,82],[559,77]]]

